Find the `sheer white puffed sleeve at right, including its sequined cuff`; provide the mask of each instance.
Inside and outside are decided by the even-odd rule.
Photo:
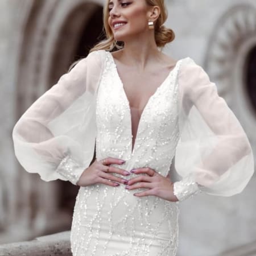
[[[254,157],[240,122],[218,96],[217,86],[190,57],[179,75],[179,132],[174,194],[181,201],[197,192],[232,196],[254,172]]]

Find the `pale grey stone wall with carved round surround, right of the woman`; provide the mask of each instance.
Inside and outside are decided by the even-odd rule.
[[[177,59],[192,57],[208,72],[210,79],[216,82],[220,96],[225,98],[245,129],[254,157],[255,113],[247,105],[248,96],[244,94],[242,82],[245,70],[240,61],[244,61],[250,47],[256,45],[255,6],[255,1],[174,1],[169,4],[167,24],[176,32],[176,40],[166,49]],[[220,46],[224,44],[227,48],[221,52]],[[230,60],[228,49],[234,49]],[[225,67],[214,61],[216,56],[223,57],[230,69],[221,78],[218,75]],[[254,176],[240,195],[199,195],[180,203],[179,255],[217,255],[253,243],[256,237],[255,184]]]

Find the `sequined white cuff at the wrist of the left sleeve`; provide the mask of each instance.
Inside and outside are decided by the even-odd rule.
[[[84,171],[84,167],[81,167],[72,157],[71,155],[65,156],[56,169],[60,175],[67,178],[72,184],[77,185],[77,181],[79,181],[82,172]]]

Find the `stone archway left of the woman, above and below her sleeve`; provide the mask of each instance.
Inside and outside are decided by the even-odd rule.
[[[23,1],[20,18],[22,38],[17,63],[17,118],[67,72],[75,59],[86,56],[86,48],[83,56],[77,55],[81,52],[81,37],[99,10],[102,19],[104,3],[104,0]],[[71,218],[63,223],[53,218],[61,219],[57,216],[60,200],[58,181],[46,183],[37,174],[27,174],[23,170],[17,172],[17,180],[16,208],[19,216],[16,218],[23,222],[23,230],[29,230],[20,234],[20,239],[69,227]],[[67,216],[63,218],[67,220]],[[24,228],[24,223],[27,228]]]

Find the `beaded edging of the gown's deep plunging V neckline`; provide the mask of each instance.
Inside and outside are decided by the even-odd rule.
[[[132,127],[132,119],[131,119],[130,101],[128,100],[127,94],[125,92],[125,88],[123,86],[123,81],[122,81],[121,77],[119,76],[117,65],[115,64],[114,57],[113,57],[112,53],[109,52],[109,51],[106,51],[106,53],[108,53],[109,56],[110,56],[110,59],[111,59],[112,64],[114,66],[115,75],[117,76],[119,84],[121,85],[122,92],[123,92],[123,95],[125,96],[125,101],[126,101],[126,104],[128,106],[128,109],[129,109],[130,133],[131,133],[131,155],[134,155],[134,150],[135,150],[135,147],[136,147],[136,144],[137,144],[136,142],[137,142],[137,138],[138,138],[138,134],[139,134],[139,127],[141,126],[141,120],[142,120],[143,114],[144,114],[145,110],[148,108],[148,106],[150,105],[150,102],[152,101],[152,98],[154,98],[158,94],[159,90],[163,87],[164,84],[166,84],[166,82],[168,81],[169,77],[175,71],[175,69],[177,67],[177,64],[179,63],[179,61],[181,59],[176,61],[174,68],[172,68],[171,71],[168,73],[166,79],[163,80],[163,82],[155,89],[155,92],[148,98],[147,103],[146,103],[146,105],[144,106],[144,108],[143,108],[143,110],[141,112],[141,116],[139,117],[139,122],[138,122],[138,126],[137,126],[137,133],[135,135],[134,145],[133,145],[133,127]]]

